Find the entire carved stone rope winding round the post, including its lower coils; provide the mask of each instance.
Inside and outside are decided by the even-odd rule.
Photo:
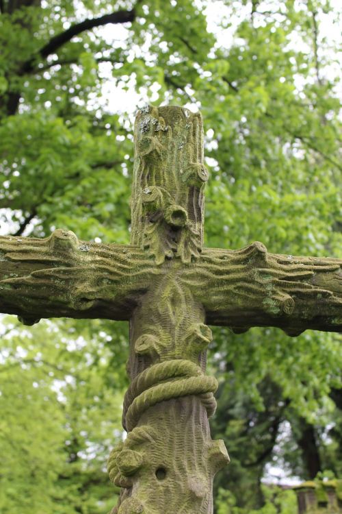
[[[185,359],[157,363],[133,379],[124,395],[122,425],[128,432],[127,439],[111,451],[108,461],[111,482],[122,488],[118,504],[111,514],[142,512],[143,509],[142,502],[131,496],[131,488],[135,474],[146,464],[142,445],[155,443],[158,435],[152,426],[137,426],[142,414],[159,402],[196,395],[210,417],[215,413],[216,400],[213,393],[217,388],[215,378],[205,376],[198,365]]]

